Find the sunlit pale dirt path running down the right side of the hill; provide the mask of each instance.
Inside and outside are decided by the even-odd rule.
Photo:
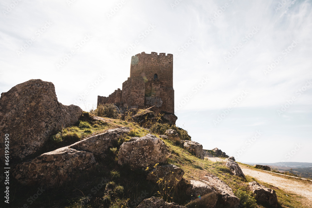
[[[271,184],[285,191],[294,192],[307,198],[307,205],[312,207],[312,185],[309,183],[283,178],[271,172],[253,170],[251,167],[239,164],[245,175],[251,176],[259,181]]]

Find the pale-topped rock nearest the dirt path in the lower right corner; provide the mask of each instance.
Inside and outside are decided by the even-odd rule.
[[[254,193],[255,199],[260,203],[267,203],[271,207],[277,207],[276,192],[273,189],[267,188],[256,181],[249,183],[249,188]]]

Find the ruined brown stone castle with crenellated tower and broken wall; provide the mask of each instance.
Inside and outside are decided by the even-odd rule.
[[[122,84],[122,90],[117,89],[108,97],[98,96],[97,105],[106,103],[121,109],[155,106],[175,123],[173,55],[142,52],[132,56],[130,77]]]

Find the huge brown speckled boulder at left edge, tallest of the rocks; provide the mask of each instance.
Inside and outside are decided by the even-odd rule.
[[[57,101],[53,83],[29,80],[1,94],[0,143],[4,146],[4,135],[9,134],[11,160],[21,161],[40,150],[51,133],[75,124],[81,115],[78,106]]]

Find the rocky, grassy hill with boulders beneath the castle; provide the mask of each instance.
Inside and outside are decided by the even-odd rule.
[[[203,150],[151,108],[123,112],[105,104],[83,112],[59,103],[54,85],[42,80],[16,85],[2,93],[0,104],[0,142],[10,141],[10,204],[4,207],[311,204],[309,195],[248,175],[220,149]]]

